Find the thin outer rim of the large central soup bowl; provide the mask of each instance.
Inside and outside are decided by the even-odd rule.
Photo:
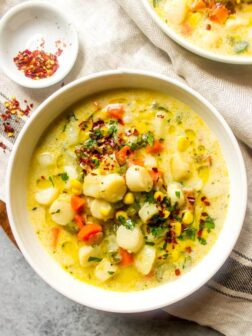
[[[187,290],[186,293],[183,293],[182,295],[180,295],[179,297],[177,297],[174,300],[168,300],[167,298],[159,298],[158,302],[156,301],[152,301],[150,303],[148,303],[148,305],[141,307],[141,309],[139,308],[134,308],[134,307],[127,307],[127,305],[122,305],[122,307],[120,308],[113,308],[111,306],[109,306],[109,303],[97,303],[94,301],[90,302],[90,301],[85,301],[85,298],[79,298],[76,297],[76,295],[74,294],[70,294],[70,293],[66,293],[62,288],[59,288],[60,286],[58,286],[57,281],[54,281],[50,275],[48,276],[48,274],[45,274],[45,272],[43,272],[43,270],[40,269],[40,266],[38,264],[36,264],[36,262],[33,261],[33,257],[29,254],[28,251],[26,251],[26,246],[25,244],[23,244],[21,237],[19,236],[18,230],[16,229],[16,223],[15,220],[12,216],[12,201],[11,201],[11,177],[12,177],[12,171],[14,168],[14,160],[15,160],[15,155],[16,152],[19,149],[19,144],[21,142],[21,139],[23,137],[23,135],[25,134],[26,130],[30,127],[30,125],[32,125],[32,121],[34,119],[36,119],[41,113],[43,113],[43,109],[46,107],[46,105],[48,103],[50,103],[51,101],[53,101],[55,98],[57,98],[59,95],[63,94],[65,91],[67,91],[68,89],[73,88],[74,86],[78,86],[79,84],[84,84],[84,83],[88,83],[88,81],[90,80],[95,80],[95,79],[104,79],[106,77],[110,77],[110,76],[114,76],[114,75],[123,75],[123,74],[130,74],[130,75],[143,75],[143,76],[147,76],[147,77],[154,77],[156,79],[159,80],[164,80],[168,83],[170,83],[171,85],[175,85],[176,87],[179,87],[180,89],[182,89],[183,91],[186,91],[187,93],[189,93],[190,95],[192,95],[194,98],[196,98],[197,100],[199,100],[201,103],[203,103],[204,105],[206,105],[206,107],[211,111],[211,113],[213,113],[217,119],[219,120],[219,122],[222,124],[222,126],[225,128],[226,131],[226,135],[229,137],[230,141],[232,142],[232,145],[234,145],[235,151],[236,151],[236,156],[237,156],[237,160],[239,161],[239,168],[240,168],[240,176],[241,176],[241,182],[242,182],[242,189],[244,191],[243,195],[241,195],[240,200],[241,200],[241,204],[240,204],[240,214],[239,214],[239,221],[238,221],[238,228],[235,232],[235,234],[233,233],[232,236],[229,239],[229,246],[225,247],[225,251],[223,252],[223,255],[215,261],[215,265],[214,267],[212,267],[211,272],[208,271],[207,275],[202,276],[201,279],[198,280],[197,285],[192,286],[192,288],[190,288],[190,290]],[[111,71],[103,71],[103,72],[99,72],[96,74],[91,74],[85,77],[82,77],[80,79],[77,79],[71,83],[69,83],[68,85],[66,85],[65,87],[60,88],[58,91],[56,91],[55,93],[53,93],[50,97],[48,97],[32,114],[30,120],[28,120],[26,122],[26,124],[24,125],[24,127],[22,128],[21,132],[19,133],[19,136],[17,138],[17,141],[14,145],[14,148],[11,152],[11,156],[8,162],[8,169],[7,169],[7,178],[6,178],[6,205],[7,205],[7,213],[8,213],[8,218],[10,221],[10,225],[11,225],[11,229],[12,232],[14,234],[14,237],[16,239],[16,242],[22,252],[22,254],[24,255],[25,259],[27,260],[27,262],[30,264],[30,266],[36,271],[36,273],[46,282],[48,283],[52,288],[54,288],[56,291],[60,292],[62,295],[68,297],[69,299],[80,303],[82,305],[86,305],[89,306],[91,308],[95,308],[95,309],[99,309],[99,310],[103,310],[103,311],[108,311],[108,312],[118,312],[118,313],[135,313],[135,312],[144,312],[144,311],[150,311],[150,310],[154,310],[154,309],[158,309],[158,308],[162,308],[164,306],[170,305],[172,303],[175,303],[177,301],[182,300],[183,298],[189,296],[190,294],[194,293],[196,290],[198,290],[201,286],[203,286],[207,281],[210,280],[210,278],[220,269],[220,267],[224,264],[224,262],[226,261],[226,259],[228,258],[228,256],[230,255],[238,237],[240,234],[240,231],[242,229],[243,226],[243,221],[244,221],[244,217],[245,217],[245,212],[246,212],[246,204],[247,204],[247,176],[246,176],[246,170],[245,170],[245,164],[244,164],[244,160],[238,145],[238,142],[235,138],[235,136],[233,135],[230,127],[228,126],[228,124],[226,123],[226,121],[224,120],[224,118],[221,116],[221,114],[204,98],[202,97],[199,93],[197,93],[196,91],[194,91],[193,89],[189,88],[187,85],[185,85],[184,83],[179,82],[176,79],[161,75],[161,74],[155,74],[149,71],[137,71],[137,70],[111,70]],[[50,256],[51,258],[51,256]],[[190,272],[188,272],[190,273]],[[163,285],[165,286],[165,285]],[[95,287],[95,286],[94,286]],[[159,288],[161,286],[158,286],[156,288]],[[101,291],[101,289],[99,287],[95,287],[96,291],[99,292]],[[153,289],[149,289],[143,292],[147,292]],[[154,288],[155,290],[155,288]],[[103,290],[104,292],[110,292],[108,290]],[[111,293],[116,293],[114,291],[111,291]],[[131,295],[132,293],[135,294],[136,298],[138,297],[138,293],[142,293],[142,292],[119,292],[121,295],[121,299],[123,300],[124,298],[126,298],[126,294]]]

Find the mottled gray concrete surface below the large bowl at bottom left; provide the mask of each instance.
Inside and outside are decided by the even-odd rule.
[[[111,314],[74,303],[41,280],[0,229],[0,336],[217,336],[162,311]]]

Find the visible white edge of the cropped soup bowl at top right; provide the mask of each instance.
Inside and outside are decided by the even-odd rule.
[[[208,58],[212,61],[230,64],[252,64],[252,56],[226,56],[198,47],[196,44],[191,43],[182,35],[176,33],[168,24],[166,24],[156,13],[149,0],[141,1],[148,14],[152,17],[154,22],[163,30],[163,32],[165,32],[171,39],[173,39],[185,49],[190,50],[191,52],[199,56]]]

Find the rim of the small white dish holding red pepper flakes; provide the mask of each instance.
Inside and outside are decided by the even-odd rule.
[[[45,81],[43,80],[26,80],[26,78],[24,78],[24,80],[22,80],[22,77],[19,78],[18,76],[15,76],[12,74],[11,71],[9,71],[8,67],[5,66],[4,62],[1,61],[0,59],[0,67],[3,70],[4,74],[9,77],[11,80],[13,80],[14,82],[16,82],[17,84],[26,87],[26,88],[30,88],[30,89],[42,89],[42,88],[47,88],[50,87],[58,82],[60,82],[62,79],[64,79],[67,74],[71,71],[72,67],[75,64],[75,61],[77,59],[78,56],[78,51],[79,51],[79,38],[78,38],[78,33],[77,30],[75,28],[75,25],[73,23],[73,21],[69,18],[69,16],[63,12],[61,9],[59,9],[58,7],[56,7],[54,4],[47,2],[47,1],[43,1],[43,0],[29,0],[29,1],[25,1],[23,3],[17,4],[13,7],[11,7],[1,18],[0,20],[0,30],[2,32],[4,32],[5,30],[5,26],[8,23],[8,21],[17,13],[23,11],[23,10],[29,10],[31,8],[36,8],[36,7],[43,7],[45,10],[49,10],[49,11],[54,11],[55,13],[57,13],[58,15],[60,15],[60,17],[62,18],[62,20],[67,24],[71,25],[71,30],[72,30],[72,46],[74,48],[72,48],[72,57],[70,59],[70,61],[68,61],[65,65],[64,65],[64,69],[62,70],[62,74],[60,77],[47,77]],[[1,46],[0,46],[1,47]]]

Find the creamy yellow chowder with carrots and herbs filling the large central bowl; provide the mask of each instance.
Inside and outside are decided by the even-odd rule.
[[[75,278],[115,291],[174,280],[212,247],[229,179],[220,145],[188,106],[116,90],[72,106],[41,138],[30,220]]]

